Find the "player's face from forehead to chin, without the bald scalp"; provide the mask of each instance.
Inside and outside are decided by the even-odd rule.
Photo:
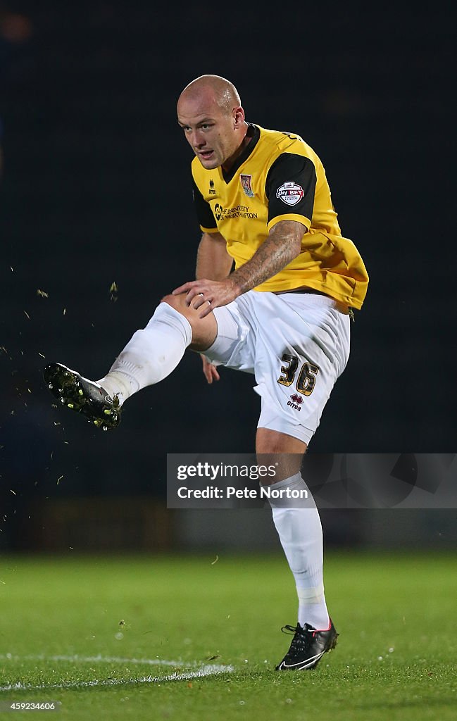
[[[236,110],[239,109],[234,108],[233,112],[223,110],[208,94],[179,98],[178,123],[207,170],[225,163],[239,147]]]

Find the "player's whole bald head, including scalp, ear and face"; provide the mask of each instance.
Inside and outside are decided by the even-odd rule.
[[[220,75],[200,75],[179,95],[177,114],[203,167],[231,167],[246,142],[248,128],[233,83]]]

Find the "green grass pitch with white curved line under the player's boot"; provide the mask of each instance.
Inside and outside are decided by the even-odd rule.
[[[56,719],[455,720],[456,559],[327,553],[336,650],[275,672],[296,622],[282,555],[4,557],[0,704]],[[40,716],[39,716],[40,717]],[[14,711],[13,718],[30,718]]]

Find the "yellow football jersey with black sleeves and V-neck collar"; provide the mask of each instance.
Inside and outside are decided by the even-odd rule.
[[[279,221],[306,226],[301,253],[256,291],[311,288],[360,309],[368,274],[352,240],[341,235],[324,167],[293,133],[249,124],[251,140],[229,173],[192,161],[200,228],[219,232],[235,267],[247,262]]]

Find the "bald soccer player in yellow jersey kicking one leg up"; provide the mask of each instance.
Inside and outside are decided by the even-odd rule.
[[[172,373],[186,348],[216,366],[254,373],[261,397],[257,454],[281,454],[272,487],[306,489],[300,468],[350,350],[350,316],[368,275],[342,236],[324,167],[294,133],[245,119],[234,85],[203,75],[179,95],[177,119],[195,158],[195,206],[203,233],[196,280],[161,299],[99,381],[60,363],[45,368],[50,391],[102,428],[120,423],[133,393]],[[334,648],[327,611],[319,512],[270,501],[296,581],[298,621],[276,667],[315,668]],[[283,630],[284,630],[283,629]]]

